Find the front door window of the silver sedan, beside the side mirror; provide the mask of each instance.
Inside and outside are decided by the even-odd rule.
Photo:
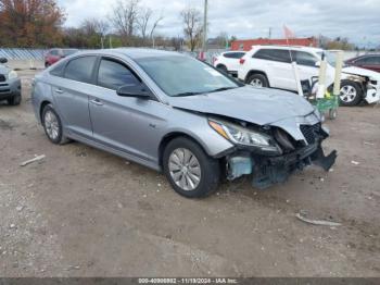
[[[99,65],[98,85],[116,90],[124,85],[139,84],[140,79],[123,63],[102,59]]]

